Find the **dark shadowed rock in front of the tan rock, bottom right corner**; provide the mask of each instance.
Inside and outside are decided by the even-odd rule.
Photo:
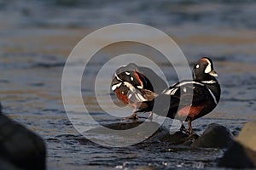
[[[256,167],[256,152],[234,141],[224,156],[218,161],[218,167],[253,168]]]

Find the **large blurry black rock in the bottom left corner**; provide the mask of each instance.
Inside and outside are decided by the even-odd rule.
[[[0,150],[0,162],[4,162],[1,166],[9,166],[8,169],[45,169],[44,140],[1,112]]]

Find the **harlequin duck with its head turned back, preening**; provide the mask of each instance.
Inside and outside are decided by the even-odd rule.
[[[167,88],[167,84],[148,67],[130,63],[114,72],[111,88],[120,101],[133,107],[132,115],[125,119],[137,120],[137,109],[148,110],[154,104],[154,98]],[[149,113],[148,118],[151,119],[153,113]]]

